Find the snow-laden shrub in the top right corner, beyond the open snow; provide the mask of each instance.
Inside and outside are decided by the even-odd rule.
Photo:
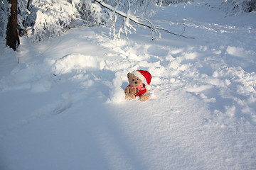
[[[228,15],[239,15],[256,10],[256,0],[223,0],[221,5]]]

